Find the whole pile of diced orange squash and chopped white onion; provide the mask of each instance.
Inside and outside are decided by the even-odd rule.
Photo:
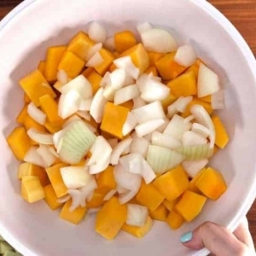
[[[175,230],[227,189],[209,166],[229,142],[212,114],[224,90],[166,30],[146,22],[107,34],[91,22],[20,79],[25,106],[7,142],[22,161],[21,195],[61,207],[73,224],[96,209],[95,230],[109,240],[143,237],[153,220]]]

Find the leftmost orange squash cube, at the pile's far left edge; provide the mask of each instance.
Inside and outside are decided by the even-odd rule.
[[[16,127],[7,137],[7,143],[13,154],[15,154],[16,159],[23,160],[26,151],[31,146],[31,139],[27,136],[24,127]]]

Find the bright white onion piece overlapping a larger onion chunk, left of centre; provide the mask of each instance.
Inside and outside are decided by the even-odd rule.
[[[81,96],[77,90],[69,90],[67,94],[61,94],[58,114],[61,119],[67,119],[79,110]]]

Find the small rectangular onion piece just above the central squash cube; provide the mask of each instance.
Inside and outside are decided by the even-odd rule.
[[[115,92],[113,103],[115,105],[120,105],[122,103],[132,100],[133,98],[136,98],[139,95],[140,91],[137,88],[137,84],[128,85]]]

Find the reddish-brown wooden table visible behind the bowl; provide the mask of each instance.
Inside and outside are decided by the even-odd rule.
[[[0,20],[15,7],[20,0],[0,0]],[[226,15],[247,40],[256,55],[256,1],[255,0],[210,0]],[[248,212],[253,240],[256,245],[256,201]]]

